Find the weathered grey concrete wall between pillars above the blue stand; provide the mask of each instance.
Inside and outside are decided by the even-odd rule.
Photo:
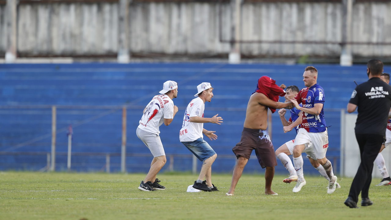
[[[231,40],[231,6],[223,2],[221,36]],[[0,51],[5,51],[5,5],[0,5]],[[391,2],[353,5],[350,41],[391,42]],[[244,2],[242,40],[335,41],[344,30],[341,2]],[[133,53],[227,54],[219,39],[219,3],[142,2],[129,5]],[[118,50],[118,2],[18,5],[18,52],[25,55],[102,55]],[[348,39],[349,41],[349,39]],[[353,55],[391,56],[391,46],[353,45]],[[338,44],[242,44],[247,56],[339,56]]]

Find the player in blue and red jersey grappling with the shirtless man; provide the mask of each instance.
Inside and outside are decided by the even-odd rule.
[[[316,159],[323,166],[328,176],[327,193],[333,193],[337,186],[337,177],[334,176],[330,160],[326,158],[328,148],[328,134],[326,128],[323,104],[325,103],[325,92],[317,83],[317,69],[312,66],[305,68],[303,81],[306,88],[291,99],[294,106],[302,111],[302,121],[299,132],[296,135],[295,146],[293,148],[293,163],[298,181],[293,191],[300,191],[306,184],[303,176],[303,158],[301,152],[305,149],[305,144],[312,142]],[[299,106],[299,103],[303,106]],[[296,188],[296,189],[295,189]]]

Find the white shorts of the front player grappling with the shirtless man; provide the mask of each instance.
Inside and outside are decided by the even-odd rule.
[[[328,134],[325,132],[307,132],[304,128],[300,128],[296,135],[294,145],[309,144],[312,142],[312,146],[317,159],[326,157],[326,151],[328,148]]]

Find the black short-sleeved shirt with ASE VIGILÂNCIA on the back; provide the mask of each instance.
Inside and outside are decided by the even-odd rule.
[[[391,86],[373,77],[353,90],[349,103],[357,105],[355,133],[385,135],[391,107]]]

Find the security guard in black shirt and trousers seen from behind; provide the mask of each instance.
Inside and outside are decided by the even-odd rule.
[[[391,87],[380,79],[382,72],[382,61],[369,60],[367,63],[369,80],[353,90],[347,107],[349,113],[357,108],[355,135],[361,155],[360,166],[350,187],[349,196],[344,202],[350,208],[357,208],[360,192],[361,206],[373,204],[368,197],[373,161],[384,141],[391,107]]]

